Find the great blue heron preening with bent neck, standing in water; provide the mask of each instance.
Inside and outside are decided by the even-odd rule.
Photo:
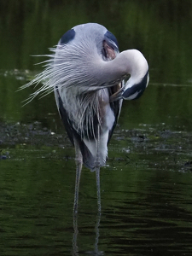
[[[100,167],[106,162],[122,99],[143,94],[148,85],[148,62],[137,49],[119,53],[117,39],[96,23],[74,26],[51,50],[44,71],[22,89],[44,82],[30,100],[54,90],[61,120],[75,147],[76,201],[84,163],[96,170],[100,205]],[[74,208],[77,211],[77,203]]]

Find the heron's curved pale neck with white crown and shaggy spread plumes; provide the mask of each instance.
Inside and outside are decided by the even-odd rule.
[[[20,87],[43,84],[32,93],[26,102],[31,102],[35,96],[46,96],[55,88],[73,88],[77,95],[86,94],[88,91],[96,91],[118,84],[131,75],[133,83],[143,78],[148,72],[148,62],[137,49],[128,49],[118,53],[116,58],[105,61],[101,52],[91,45],[91,38],[82,41],[82,44],[57,45],[49,49],[53,54],[38,55],[49,57],[44,63],[44,71],[35,79]],[[82,102],[83,103],[83,102]]]

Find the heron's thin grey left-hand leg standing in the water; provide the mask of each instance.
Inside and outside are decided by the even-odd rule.
[[[76,179],[75,179],[73,213],[77,213],[78,202],[79,202],[79,183],[80,183],[81,170],[82,170],[82,164],[83,164],[83,156],[79,148],[79,143],[75,138],[74,138],[74,146],[75,146],[75,162],[76,162]]]

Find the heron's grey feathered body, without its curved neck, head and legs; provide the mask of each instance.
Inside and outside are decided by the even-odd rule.
[[[62,67],[67,67],[66,76],[70,77],[67,86],[66,79],[55,86],[57,108],[68,137],[73,145],[74,140],[79,145],[84,166],[90,170],[105,164],[122,104],[122,99],[110,102],[121,83],[103,80],[102,69],[98,73],[97,66],[118,54],[113,34],[92,24],[75,26],[61,38],[56,49],[55,68],[62,73]]]

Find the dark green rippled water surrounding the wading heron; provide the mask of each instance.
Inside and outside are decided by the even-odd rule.
[[[0,255],[192,254],[192,3],[1,1]],[[98,22],[140,49],[150,82],[124,102],[101,171],[83,169],[73,218],[74,150],[53,95],[15,92],[72,26]],[[79,231],[79,232],[78,232]]]

